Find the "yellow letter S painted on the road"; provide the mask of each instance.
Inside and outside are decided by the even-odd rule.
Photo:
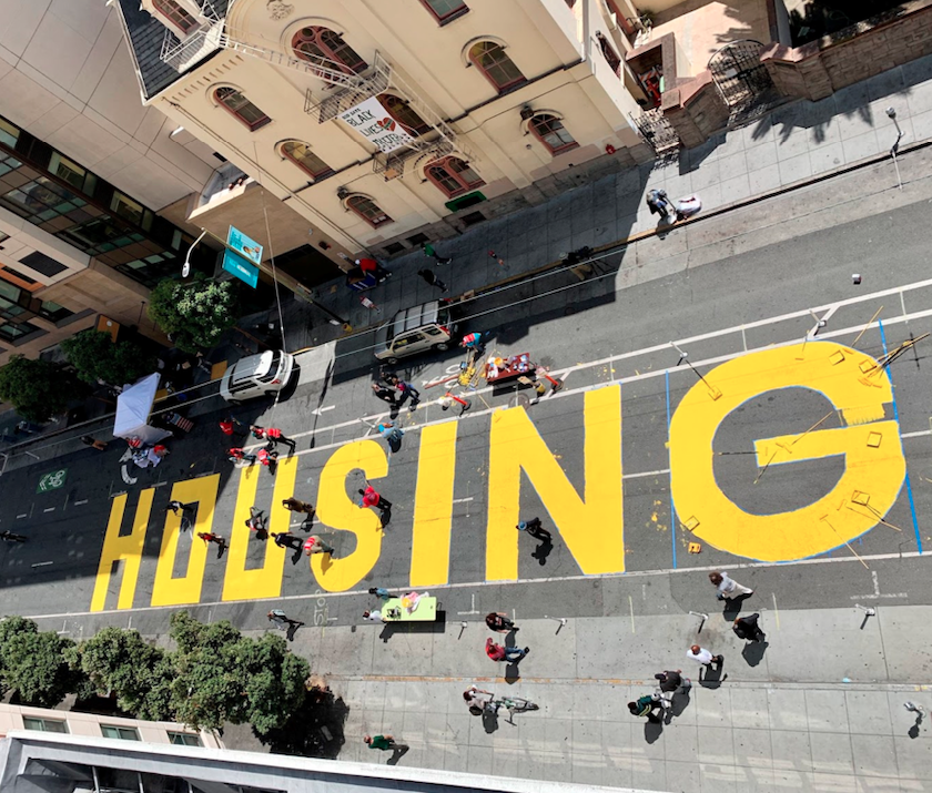
[[[354,476],[347,486],[346,477],[361,469],[367,479],[381,479],[388,474],[385,451],[374,440],[357,440],[340,447],[321,471],[317,489],[317,517],[322,523],[340,531],[356,535],[356,549],[348,556],[331,559],[330,553],[311,557],[311,569],[323,589],[345,592],[365,578],[382,553],[382,521],[373,509],[361,509],[356,490],[362,477]],[[350,488],[352,498],[346,496]],[[391,499],[389,494],[385,494]]]

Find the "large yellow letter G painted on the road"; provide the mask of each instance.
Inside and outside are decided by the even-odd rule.
[[[697,537],[737,556],[790,561],[850,542],[893,506],[906,462],[896,421],[882,420],[893,392],[873,358],[840,344],[809,342],[749,353],[712,369],[706,380],[721,396],[712,398],[709,387],[697,383],[670,423],[673,502]],[[758,440],[759,468],[843,455],[844,474],[801,509],[753,515],[718,486],[712,443],[732,410],[778,388],[821,393],[848,426]]]

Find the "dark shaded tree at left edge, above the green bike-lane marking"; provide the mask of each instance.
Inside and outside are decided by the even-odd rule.
[[[13,355],[0,366],[0,399],[30,421],[48,421],[74,397],[74,379],[59,364]]]

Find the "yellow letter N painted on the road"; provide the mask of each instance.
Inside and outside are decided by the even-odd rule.
[[[521,407],[494,413],[489,438],[486,579],[518,577],[515,529],[520,509],[521,470],[550,514],[560,537],[587,575],[625,570],[621,492],[621,387],[587,392],[586,500],[570,485]]]

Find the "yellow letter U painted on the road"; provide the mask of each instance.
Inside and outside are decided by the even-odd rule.
[[[288,457],[278,462],[275,472],[275,488],[272,505],[256,504],[255,491],[263,466],[250,466],[240,469],[240,488],[236,492],[236,509],[233,512],[233,528],[230,531],[230,550],[226,553],[226,575],[223,578],[223,594],[226,600],[255,600],[256,598],[277,598],[282,594],[282,579],[285,575],[285,549],[275,545],[272,532],[288,530],[291,512],[282,506],[282,499],[294,494],[294,480],[297,475],[297,457]],[[265,474],[265,476],[269,476]],[[246,551],[255,532],[246,526],[250,507],[255,506],[270,516],[269,538],[265,540],[265,557],[262,567],[246,569]]]

